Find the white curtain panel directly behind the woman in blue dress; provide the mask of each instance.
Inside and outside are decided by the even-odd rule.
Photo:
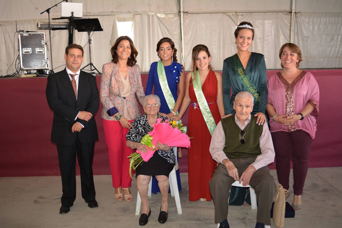
[[[177,15],[160,17],[156,14],[134,15],[134,45],[138,51],[137,64],[141,72],[148,72],[151,63],[158,61],[157,43],[163,37],[169,37],[177,49],[177,59],[181,63],[180,19]]]

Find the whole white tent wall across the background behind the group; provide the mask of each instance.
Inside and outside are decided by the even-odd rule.
[[[47,42],[48,30],[37,30],[37,22],[48,21],[45,9],[56,4],[55,0],[0,0],[0,74],[6,71],[17,56],[17,30],[43,31]],[[71,1],[69,1],[71,2]],[[74,0],[83,3],[83,17],[98,18],[102,32],[92,36],[93,64],[101,71],[110,62],[110,47],[118,36],[117,22],[121,14],[131,14],[134,43],[138,64],[146,72],[157,61],[155,46],[162,37],[170,37],[178,49],[178,60],[190,69],[191,50],[198,43],[206,44],[211,51],[215,70],[222,70],[223,60],[236,52],[233,32],[241,21],[249,21],[255,27],[251,51],[265,55],[268,69],[280,68],[278,51],[281,44],[290,42],[292,25],[293,42],[303,53],[301,68],[339,68],[341,60],[342,1],[340,0]],[[180,23],[180,4],[183,3],[184,24]],[[51,10],[51,18],[59,17],[61,6]],[[293,20],[291,12],[294,13]],[[65,21],[65,20],[64,20]],[[181,28],[184,33],[184,59],[181,59]],[[88,42],[86,32],[75,32],[77,43]],[[54,68],[65,64],[64,49],[67,31],[52,31]],[[88,45],[84,48],[83,65],[89,62]],[[50,53],[47,53],[50,57]],[[88,67],[89,68],[89,67]],[[55,71],[61,70],[61,68]],[[15,71],[11,66],[8,73]]]

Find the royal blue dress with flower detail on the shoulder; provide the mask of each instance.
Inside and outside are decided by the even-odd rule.
[[[154,85],[154,93],[160,98],[160,109],[159,111],[162,113],[170,113],[169,106],[165,100],[163,91],[161,89],[160,83],[159,83],[159,78],[158,78],[158,71],[157,71],[157,64],[158,62],[154,62],[151,64],[150,70],[148,72],[148,80],[147,80],[147,85],[146,85],[146,92],[145,95],[150,95],[152,94],[152,88]],[[166,74],[166,79],[168,81],[168,85],[170,88],[170,91],[173,95],[173,98],[176,102],[178,94],[178,82],[179,82],[179,77],[180,77],[180,72],[181,70],[181,65],[176,62],[172,62],[171,65],[169,66],[164,66],[165,74]],[[175,72],[174,72],[175,71]],[[182,71],[181,71],[182,72]],[[178,161],[178,156],[177,161]],[[179,170],[176,171],[176,176],[177,176],[177,183],[178,183],[178,190],[182,190],[181,186],[181,177],[180,177],[180,172]],[[157,194],[157,192],[160,192],[159,186],[158,186],[158,181],[155,177],[152,178],[152,193]]]

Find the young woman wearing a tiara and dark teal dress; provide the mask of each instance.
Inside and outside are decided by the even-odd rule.
[[[241,22],[234,32],[237,53],[223,61],[222,85],[223,105],[226,116],[235,114],[233,102],[240,91],[248,91],[254,96],[252,115],[257,116],[257,124],[267,124],[265,115],[267,102],[267,76],[264,55],[248,49],[254,39],[253,25]],[[232,90],[231,90],[232,88]],[[232,97],[231,97],[232,91]],[[242,192],[240,192],[242,191]],[[246,190],[232,187],[231,201],[245,198]],[[243,201],[242,201],[243,202]],[[250,205],[249,194],[244,205]],[[232,205],[238,205],[235,201]]]

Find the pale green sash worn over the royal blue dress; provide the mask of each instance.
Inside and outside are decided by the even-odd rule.
[[[159,61],[157,63],[157,73],[158,73],[158,79],[160,83],[161,90],[163,91],[166,103],[169,106],[170,112],[172,112],[174,106],[176,105],[176,102],[173,98],[173,95],[171,93],[168,80],[166,79],[165,69],[162,61]],[[166,113],[168,114],[168,113]],[[178,116],[178,111],[176,112],[176,116]],[[182,123],[181,120],[179,120],[180,123]],[[183,127],[184,131],[186,132],[186,126]]]

